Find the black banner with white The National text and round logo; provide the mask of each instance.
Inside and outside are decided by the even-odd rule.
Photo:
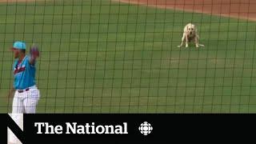
[[[2,114],[2,118],[6,116],[7,114]],[[21,141],[29,144],[255,143],[254,116],[254,114],[24,114],[23,135],[19,130],[15,130],[14,133],[24,136]],[[5,126],[10,127],[10,122],[1,123],[1,130]]]

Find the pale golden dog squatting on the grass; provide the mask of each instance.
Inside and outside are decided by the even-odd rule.
[[[186,43],[186,47],[189,46],[189,42],[194,42],[196,47],[204,46],[202,44],[199,44],[198,30],[197,27],[192,23],[189,23],[184,27],[182,43],[178,47],[182,47],[184,45],[184,42]]]

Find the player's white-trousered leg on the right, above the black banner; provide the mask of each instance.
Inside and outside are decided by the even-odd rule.
[[[34,114],[40,98],[40,92],[38,89],[32,89],[27,92],[26,98],[23,101],[26,114]]]

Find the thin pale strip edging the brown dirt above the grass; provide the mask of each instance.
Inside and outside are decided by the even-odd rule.
[[[182,9],[182,8],[178,8],[174,5],[157,6],[157,5],[153,5],[153,4],[146,4],[144,2],[140,2],[139,0],[138,0],[138,2],[130,2],[129,0],[112,0],[112,1],[113,2],[130,3],[130,4],[133,4],[133,5],[149,6],[149,7],[153,7],[153,8],[159,8],[159,9],[180,10],[180,11],[186,11],[186,12],[199,13],[199,14],[222,16],[222,17],[226,17],[226,18],[238,18],[238,19],[244,19],[244,20],[253,21],[253,22],[256,21],[256,18],[247,18],[247,17],[242,17],[242,16],[237,17],[237,16],[230,15],[230,14],[207,13],[207,12],[202,12],[202,10],[185,10],[185,9]]]

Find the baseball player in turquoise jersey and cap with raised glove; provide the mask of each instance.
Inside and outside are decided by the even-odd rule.
[[[40,92],[35,84],[35,62],[39,57],[37,46],[30,47],[30,54],[26,55],[26,43],[14,42],[11,47],[14,53],[14,85],[10,94],[14,93],[12,105],[12,118],[21,126],[21,114],[34,114],[40,98]],[[10,143],[16,143],[17,138],[10,133]]]

